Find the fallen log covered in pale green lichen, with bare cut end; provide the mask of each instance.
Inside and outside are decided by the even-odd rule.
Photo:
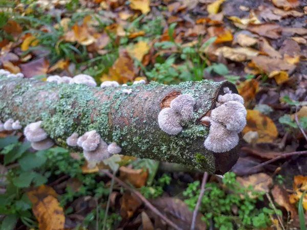
[[[224,87],[237,93],[235,85],[227,81],[99,88],[0,77],[0,121],[12,118],[23,127],[42,121],[49,137],[65,148],[65,140],[73,132],[82,135],[95,129],[105,142],[121,146],[121,154],[223,174],[236,163],[238,146],[224,153],[205,149],[209,127],[199,121],[215,107]],[[132,93],[123,94],[124,88],[131,88]],[[180,94],[196,100],[194,118],[178,135],[168,135],[159,128],[158,114]]]

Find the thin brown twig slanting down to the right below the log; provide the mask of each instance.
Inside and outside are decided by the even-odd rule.
[[[134,193],[136,196],[139,197],[140,200],[145,204],[145,206],[150,209],[152,212],[156,213],[161,219],[163,219],[168,225],[173,227],[174,229],[183,230],[176,224],[174,224],[171,220],[169,220],[167,217],[165,217],[155,206],[153,206],[140,192],[134,190],[133,188],[129,187],[124,183],[122,180],[117,178],[114,174],[110,173],[107,170],[100,170],[101,172],[105,173],[109,178],[114,179],[119,185],[129,190],[131,193]]]

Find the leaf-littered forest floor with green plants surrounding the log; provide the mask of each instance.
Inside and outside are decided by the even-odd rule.
[[[27,78],[233,82],[244,143],[208,176],[194,229],[306,229],[306,0],[0,0],[0,34],[0,67]],[[190,229],[204,172],[120,155],[90,168],[0,137],[1,229]]]

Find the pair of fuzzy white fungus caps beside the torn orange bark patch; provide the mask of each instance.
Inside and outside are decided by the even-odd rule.
[[[173,99],[169,108],[164,108],[158,116],[159,127],[169,135],[177,135],[182,125],[193,119],[195,100],[188,94]]]

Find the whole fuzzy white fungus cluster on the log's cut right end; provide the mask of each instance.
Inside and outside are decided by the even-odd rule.
[[[211,123],[204,146],[213,152],[233,149],[239,141],[238,133],[246,126],[244,99],[238,94],[232,94],[228,87],[224,88],[224,93],[218,96],[217,107],[211,111],[210,117],[201,120]]]

